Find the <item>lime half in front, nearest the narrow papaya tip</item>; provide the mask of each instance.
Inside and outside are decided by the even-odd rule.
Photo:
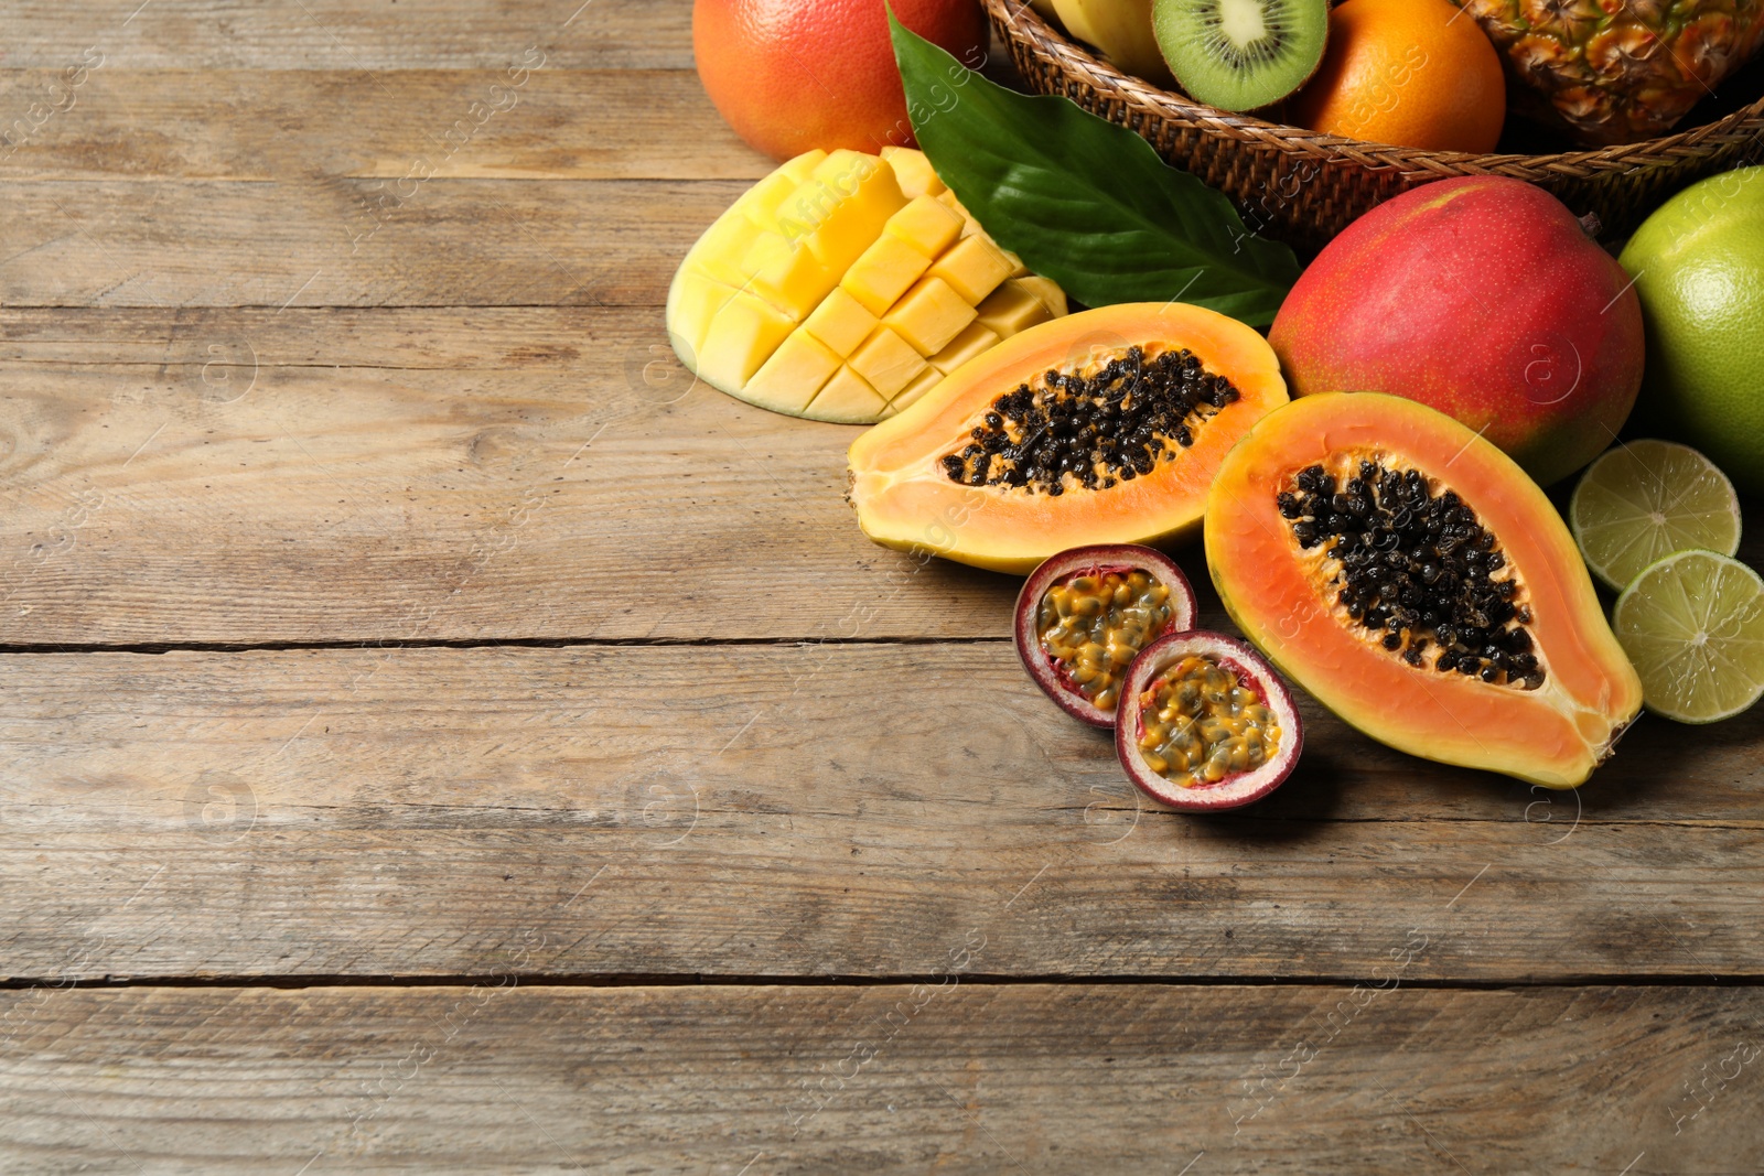
[[[1738,559],[1667,555],[1623,589],[1611,622],[1655,714],[1715,723],[1764,695],[1764,580]]]

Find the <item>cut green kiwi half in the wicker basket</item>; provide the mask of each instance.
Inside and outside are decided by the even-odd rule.
[[[1316,72],[1328,0],[1154,0],[1152,32],[1189,97],[1252,111]]]

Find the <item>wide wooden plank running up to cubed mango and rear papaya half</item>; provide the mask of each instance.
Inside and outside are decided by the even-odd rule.
[[[653,309],[0,326],[0,644],[1004,636]]]

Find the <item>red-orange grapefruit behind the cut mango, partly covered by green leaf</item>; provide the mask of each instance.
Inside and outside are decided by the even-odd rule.
[[[893,7],[963,65],[986,62],[977,0]],[[884,0],[697,0],[691,48],[718,113],[773,159],[841,146],[875,155],[914,143]],[[958,95],[951,88],[949,100]]]

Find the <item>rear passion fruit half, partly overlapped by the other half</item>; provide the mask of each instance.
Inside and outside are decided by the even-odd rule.
[[[1162,552],[1099,543],[1060,552],[1016,596],[1016,652],[1062,711],[1115,726],[1127,666],[1164,633],[1194,624],[1194,589]]]

